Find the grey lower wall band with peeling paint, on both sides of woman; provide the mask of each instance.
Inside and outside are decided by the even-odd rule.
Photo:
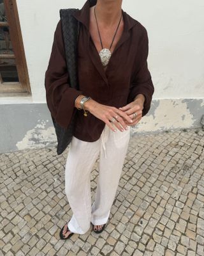
[[[157,99],[131,134],[201,127],[204,99]],[[0,152],[57,144],[46,104],[7,104],[0,108]]]

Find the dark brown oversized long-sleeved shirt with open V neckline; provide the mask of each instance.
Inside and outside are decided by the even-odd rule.
[[[124,30],[115,47],[108,67],[103,68],[99,53],[89,33],[89,0],[74,14],[81,22],[78,38],[79,90],[71,88],[62,36],[61,20],[54,33],[52,52],[45,72],[45,90],[48,109],[55,121],[66,128],[76,113],[73,136],[83,141],[99,139],[105,122],[75,108],[75,99],[83,94],[101,104],[120,108],[133,101],[139,93],[145,96],[142,116],[150,109],[154,86],[147,67],[149,39],[145,27],[122,10]]]

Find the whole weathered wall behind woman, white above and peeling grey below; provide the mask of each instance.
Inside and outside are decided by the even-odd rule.
[[[0,98],[0,152],[55,143],[44,77],[61,8],[85,1],[17,0],[31,97]],[[123,10],[147,28],[152,106],[132,132],[200,127],[204,114],[204,1],[123,1]]]

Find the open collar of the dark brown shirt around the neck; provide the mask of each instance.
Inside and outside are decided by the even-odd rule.
[[[82,9],[77,10],[75,13],[73,13],[73,17],[75,17],[77,20],[82,22],[82,24],[85,25],[85,27],[89,30],[89,8],[94,6],[96,1],[87,0],[82,7]],[[137,21],[133,19],[131,16],[128,15],[128,13],[124,12],[122,10],[122,16],[124,20],[124,31],[128,31],[131,29]]]

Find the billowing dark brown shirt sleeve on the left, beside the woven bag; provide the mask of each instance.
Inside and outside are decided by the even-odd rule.
[[[45,90],[47,106],[51,115],[57,124],[66,129],[74,111],[77,111],[75,99],[83,92],[69,86],[62,36],[61,20],[59,20],[54,33],[48,68],[45,72]]]

